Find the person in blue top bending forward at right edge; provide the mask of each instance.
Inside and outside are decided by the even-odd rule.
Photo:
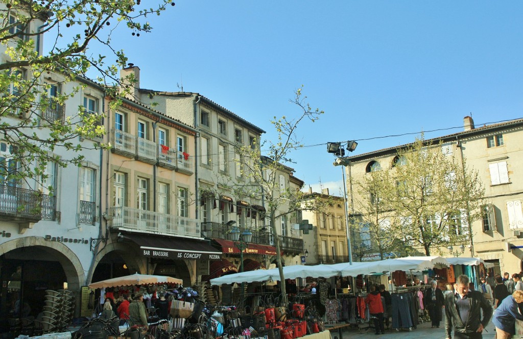
[[[519,313],[521,303],[523,303],[523,291],[516,290],[494,311],[492,323],[496,326],[497,339],[510,339],[516,334],[516,319],[523,320],[523,315]]]

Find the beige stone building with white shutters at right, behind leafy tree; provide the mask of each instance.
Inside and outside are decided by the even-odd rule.
[[[430,147],[441,147],[446,156],[458,161],[466,159],[467,166],[479,172],[485,186],[485,213],[472,224],[472,237],[464,243],[465,250],[460,256],[474,255],[490,261],[496,265],[495,272],[523,270],[523,251],[520,249],[523,248],[523,120],[475,128],[472,118],[467,116],[464,131],[426,142]],[[350,161],[346,169],[349,202],[357,195],[354,182],[370,172],[372,166],[377,166],[376,163],[381,168],[390,168],[396,149],[404,146],[346,158]],[[452,255],[446,248],[438,251],[442,255]]]

